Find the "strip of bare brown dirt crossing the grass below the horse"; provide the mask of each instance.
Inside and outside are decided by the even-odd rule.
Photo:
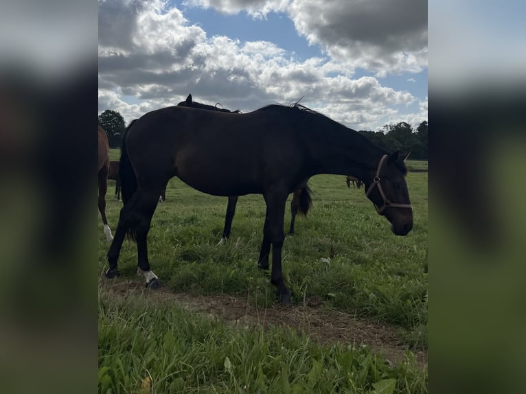
[[[308,335],[320,343],[344,343],[356,346],[367,345],[385,355],[393,364],[405,360],[403,345],[397,338],[397,327],[386,325],[351,314],[326,308],[319,299],[306,299],[303,305],[273,305],[270,308],[256,308],[240,297],[220,294],[214,296],[192,296],[172,292],[168,288],[148,290],[144,284],[127,279],[107,281],[101,279],[99,286],[114,297],[148,297],[157,301],[174,302],[185,310],[219,318],[229,324],[250,327],[253,325],[283,325]],[[418,363],[427,364],[427,351],[411,349]]]

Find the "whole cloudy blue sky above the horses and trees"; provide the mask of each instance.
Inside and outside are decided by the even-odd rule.
[[[99,0],[99,113],[301,104],[354,130],[427,120],[422,0]]]

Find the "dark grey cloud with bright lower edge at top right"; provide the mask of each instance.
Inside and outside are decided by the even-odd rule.
[[[187,5],[254,17],[283,12],[311,45],[348,67],[418,73],[427,67],[427,2],[422,0],[187,0]]]

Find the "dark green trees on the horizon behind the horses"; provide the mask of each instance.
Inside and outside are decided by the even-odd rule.
[[[120,148],[126,130],[124,118],[117,111],[106,109],[99,115],[99,125],[106,130],[111,148]],[[410,159],[427,160],[427,121],[413,130],[411,124],[401,121],[387,124],[380,131],[359,130],[369,141],[387,152],[411,152]]]

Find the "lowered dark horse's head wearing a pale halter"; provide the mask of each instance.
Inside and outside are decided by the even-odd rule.
[[[413,229],[413,209],[409,200],[405,176],[407,167],[400,152],[385,154],[378,167],[365,181],[365,195],[378,213],[391,222],[391,231],[396,235],[407,235]]]

